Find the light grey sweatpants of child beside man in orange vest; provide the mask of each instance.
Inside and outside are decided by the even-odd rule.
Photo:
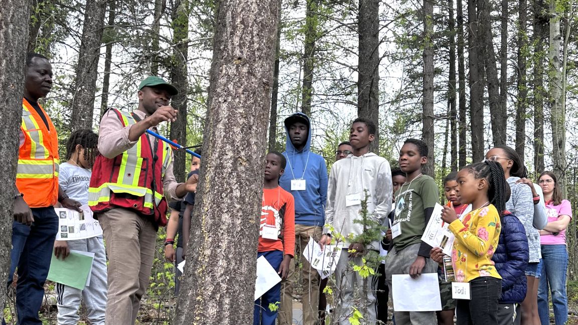
[[[76,325],[80,316],[80,300],[88,311],[88,320],[92,325],[105,323],[106,307],[106,253],[102,237],[75,239],[68,241],[68,248],[94,253],[90,285],[79,290],[73,287],[56,284],[58,325]]]

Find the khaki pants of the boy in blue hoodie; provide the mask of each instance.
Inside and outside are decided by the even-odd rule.
[[[301,256],[303,264],[303,325],[315,325],[319,317],[319,274],[309,266],[303,257],[309,237],[318,241],[323,228],[295,224],[295,256]],[[296,260],[291,261],[287,278],[281,281],[281,304],[279,308],[279,325],[291,325],[293,320],[293,287],[297,273]]]

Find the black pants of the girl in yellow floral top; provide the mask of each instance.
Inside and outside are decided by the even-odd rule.
[[[472,300],[457,300],[456,325],[498,325],[498,300],[502,294],[502,280],[480,276],[471,280]]]

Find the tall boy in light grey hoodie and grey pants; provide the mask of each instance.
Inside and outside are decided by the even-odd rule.
[[[329,174],[327,194],[327,208],[325,222],[334,228],[335,232],[343,235],[344,248],[355,250],[348,253],[343,250],[336,270],[335,280],[338,288],[336,319],[341,325],[349,325],[348,318],[353,311],[354,289],[366,291],[362,295],[360,312],[368,324],[376,323],[376,285],[377,277],[370,276],[366,283],[370,287],[363,288],[364,279],[354,272],[350,262],[362,265],[362,256],[369,249],[379,250],[379,242],[372,242],[365,247],[361,243],[350,242],[351,239],[363,232],[363,226],[354,223],[361,220],[361,201],[368,195],[368,216],[379,224],[387,218],[391,210],[392,183],[389,162],[369,152],[369,143],[375,139],[376,126],[372,121],[358,117],[351,125],[349,141],[353,147],[353,154],[336,161]],[[367,192],[366,192],[367,191]],[[324,227],[320,244],[328,245],[331,242],[329,227]],[[353,235],[351,237],[350,235]],[[349,268],[348,268],[349,267]]]

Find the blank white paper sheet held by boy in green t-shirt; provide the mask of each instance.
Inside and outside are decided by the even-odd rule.
[[[409,274],[394,274],[391,276],[391,284],[394,311],[429,312],[442,310],[437,273],[424,273],[417,279],[412,279]],[[416,299],[416,293],[419,294],[419,299]]]

